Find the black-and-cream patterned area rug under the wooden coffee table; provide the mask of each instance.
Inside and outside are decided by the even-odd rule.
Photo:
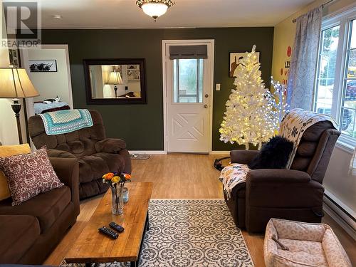
[[[253,266],[244,237],[223,199],[152,199],[149,214],[150,231],[145,236],[139,266]]]

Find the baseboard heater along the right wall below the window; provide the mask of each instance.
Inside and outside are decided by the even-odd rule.
[[[329,192],[325,193],[328,195]],[[328,196],[330,197],[330,196]],[[342,229],[344,229],[347,234],[349,234],[352,239],[356,241],[356,222],[355,219],[350,218],[347,214],[345,214],[345,211],[342,211],[339,206],[337,206],[333,201],[330,201],[328,197],[324,197],[324,204],[323,204],[323,209],[324,211],[330,215],[331,218],[333,218],[337,224],[341,226]],[[330,197],[333,199],[333,197]]]

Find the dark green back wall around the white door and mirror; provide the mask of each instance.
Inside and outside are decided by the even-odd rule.
[[[67,43],[74,108],[98,110],[108,137],[119,137],[130,150],[163,150],[162,40],[214,39],[213,150],[231,150],[236,145],[219,140],[219,125],[225,103],[234,88],[229,78],[229,52],[261,52],[262,78],[270,86],[273,27],[184,28],[184,29],[56,29],[43,30],[45,44]],[[85,100],[84,58],[145,58],[147,105],[87,105]]]

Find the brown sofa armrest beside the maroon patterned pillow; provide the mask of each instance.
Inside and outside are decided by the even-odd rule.
[[[50,157],[51,164],[58,178],[69,187],[75,214],[78,216],[79,206],[79,164],[78,159]]]

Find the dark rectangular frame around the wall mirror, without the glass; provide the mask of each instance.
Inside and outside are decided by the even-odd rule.
[[[146,104],[146,68],[145,58],[123,58],[123,59],[84,59],[84,77],[87,95],[87,104]],[[92,65],[140,65],[141,98],[93,98],[89,66]]]

